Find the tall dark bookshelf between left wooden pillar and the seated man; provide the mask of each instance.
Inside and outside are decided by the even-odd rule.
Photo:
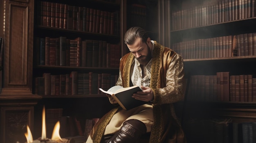
[[[60,10],[56,8],[58,6]],[[100,93],[98,88],[105,87],[107,90],[117,80],[122,55],[120,8],[119,0],[35,2],[32,92],[43,97],[35,107],[36,111],[42,110],[43,106],[48,110],[61,108],[62,119],[75,117],[84,133],[86,120],[100,118],[112,108],[106,95]],[[60,16],[57,11],[60,11]],[[65,41],[61,42],[61,37],[65,37]],[[64,54],[60,57],[63,43]],[[42,78],[43,85],[39,81]],[[36,123],[41,122],[40,114],[35,112]],[[40,124],[35,124],[35,127],[38,130],[34,136],[40,136]],[[64,131],[71,129],[62,128]],[[64,138],[79,134],[62,135]],[[47,136],[50,137],[51,132]]]

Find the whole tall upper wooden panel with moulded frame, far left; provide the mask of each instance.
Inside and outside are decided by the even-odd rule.
[[[31,93],[34,0],[27,2],[6,1],[4,82],[1,94],[16,94],[16,89],[21,94]]]

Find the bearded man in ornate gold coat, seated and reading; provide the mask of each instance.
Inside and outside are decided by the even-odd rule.
[[[132,97],[148,104],[112,109],[94,125],[86,143],[136,143],[146,132],[149,143],[186,143],[173,108],[184,98],[182,57],[150,40],[140,27],[128,29],[124,42],[130,53],[120,60],[116,85],[140,86],[142,91]],[[117,104],[112,97],[109,100]]]

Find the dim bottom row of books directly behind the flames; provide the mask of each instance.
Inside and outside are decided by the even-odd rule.
[[[48,108],[45,110],[45,121],[47,136],[52,136],[54,125],[59,121],[59,134],[62,138],[75,141],[75,143],[78,143],[78,141],[83,143],[88,138],[93,125],[99,121],[99,118],[79,121],[74,116],[63,116],[63,108]]]

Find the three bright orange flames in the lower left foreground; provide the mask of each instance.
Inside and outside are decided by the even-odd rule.
[[[60,122],[58,121],[54,126],[54,129],[52,132],[52,139],[47,139],[46,125],[45,125],[45,106],[44,106],[43,112],[42,112],[42,136],[41,136],[41,138],[34,141],[31,131],[30,131],[30,128],[27,125],[27,132],[25,133],[27,143],[40,143],[41,141],[45,141],[45,143],[66,143],[67,139],[61,139],[61,136],[59,134],[60,127],[61,127],[61,125],[60,125]]]

